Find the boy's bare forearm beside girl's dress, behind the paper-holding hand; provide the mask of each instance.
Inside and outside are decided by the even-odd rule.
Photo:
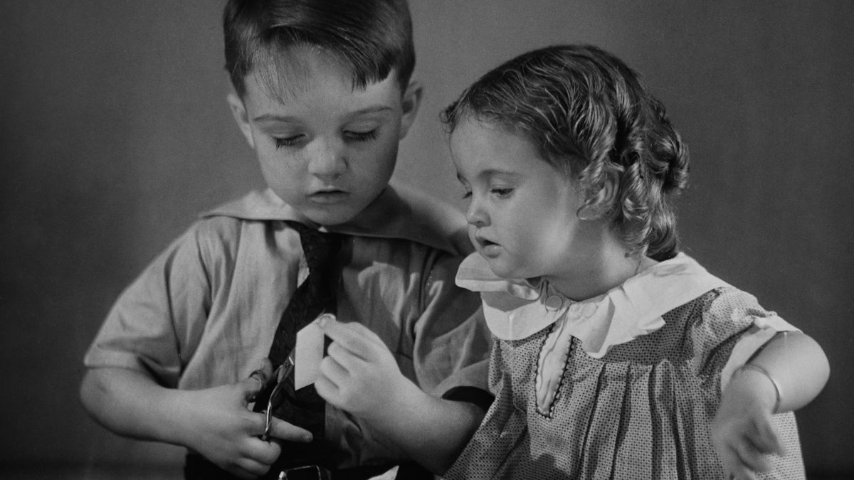
[[[453,464],[483,419],[483,409],[464,401],[447,401],[427,395],[407,383],[400,395],[372,421],[383,433],[400,442],[412,459],[435,473]]]

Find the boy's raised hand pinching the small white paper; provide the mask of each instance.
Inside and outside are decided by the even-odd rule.
[[[370,418],[401,391],[407,378],[385,343],[365,325],[341,323],[331,316],[318,325],[332,339],[314,383],[318,394],[335,407]]]

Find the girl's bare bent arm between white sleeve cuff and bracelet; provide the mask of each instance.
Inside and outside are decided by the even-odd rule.
[[[810,403],[821,393],[830,374],[822,348],[801,332],[778,333],[748,363],[762,367],[779,386],[778,412]]]

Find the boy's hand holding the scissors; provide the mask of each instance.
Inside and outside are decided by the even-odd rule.
[[[278,459],[276,442],[260,439],[266,417],[249,410],[267,379],[272,376],[269,360],[243,382],[213,389],[187,392],[187,447],[225,471],[241,478],[263,475]],[[281,419],[272,419],[272,436],[291,442],[310,442],[311,433]]]

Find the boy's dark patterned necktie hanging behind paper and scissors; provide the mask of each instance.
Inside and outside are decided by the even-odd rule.
[[[296,289],[278,323],[269,355],[273,369],[281,365],[294,348],[297,331],[311,323],[320,313],[336,313],[340,267],[335,260],[345,237],[313,230],[298,222],[286,223],[300,234],[308,265],[308,278]],[[256,396],[256,412],[266,408],[274,383],[271,382],[267,389]],[[275,400],[279,401],[273,406],[275,417],[309,430],[314,436],[311,443],[284,442],[279,459],[283,462],[281,465],[290,464],[291,460],[301,465],[323,463],[322,460],[329,455],[329,452],[324,455],[323,448],[326,404],[314,385],[294,391],[294,372],[290,372]]]

